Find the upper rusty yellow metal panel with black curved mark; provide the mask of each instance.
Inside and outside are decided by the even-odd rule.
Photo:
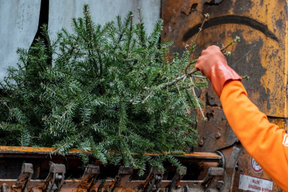
[[[209,45],[222,46],[240,36],[241,41],[229,49],[232,56],[227,58],[228,63],[240,75],[249,75],[250,80],[243,84],[261,111],[268,116],[287,118],[287,2],[213,2],[163,0],[162,40],[174,40],[171,52],[183,51],[195,39],[204,14],[209,13],[210,18],[199,35],[195,58]],[[213,91],[207,93],[217,97]]]

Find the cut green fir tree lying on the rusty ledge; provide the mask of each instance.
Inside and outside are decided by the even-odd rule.
[[[104,164],[123,163],[140,174],[146,162],[180,167],[173,155],[190,151],[198,138],[189,114],[197,103],[189,78],[163,85],[183,75],[191,52],[169,61],[172,41],[159,43],[163,21],[148,35],[141,15],[136,22],[132,12],[100,26],[85,5],[84,18],[73,25],[73,33],[62,29],[48,46],[38,39],[29,51],[18,50],[18,68],[9,68],[1,82],[6,139],[0,144],[54,147],[60,154],[78,148],[84,161],[89,151]],[[48,38],[46,26],[43,31]]]

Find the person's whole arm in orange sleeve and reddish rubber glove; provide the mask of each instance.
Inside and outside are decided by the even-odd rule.
[[[227,65],[219,47],[210,46],[202,51],[195,67],[212,81],[227,120],[243,147],[276,184],[288,191],[285,130],[270,123],[250,101],[242,78]]]

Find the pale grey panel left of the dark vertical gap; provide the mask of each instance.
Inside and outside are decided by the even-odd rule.
[[[38,28],[40,0],[0,0],[0,80],[16,66],[18,47],[29,48]]]

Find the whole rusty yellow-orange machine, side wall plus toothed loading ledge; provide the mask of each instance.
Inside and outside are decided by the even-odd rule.
[[[281,128],[287,127],[287,21],[286,0],[162,0],[162,40],[173,39],[171,52],[182,52],[191,44],[204,19],[197,58],[209,45],[230,46],[228,64],[243,80],[249,98]],[[182,172],[168,162],[166,171],[151,168],[138,177],[130,167],[106,165],[90,157],[83,164],[72,150],[65,156],[53,149],[0,146],[0,192],[193,192],[193,191],[282,191],[245,151],[231,130],[211,84],[198,96],[206,103],[208,121],[198,116],[198,146],[184,157]],[[267,157],[269,158],[269,157]]]

